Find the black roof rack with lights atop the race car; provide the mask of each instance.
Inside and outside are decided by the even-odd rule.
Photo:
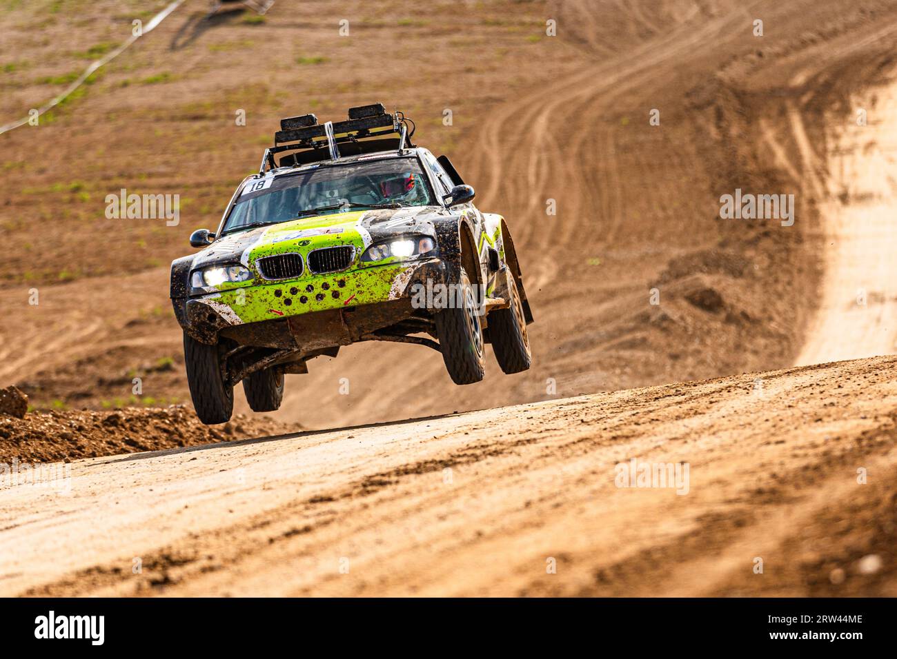
[[[410,128],[409,128],[410,125]],[[266,169],[295,167],[312,162],[339,160],[344,156],[414,148],[414,121],[396,110],[388,114],[382,103],[349,108],[346,121],[318,124],[312,114],[281,119],[274,134],[274,146],[262,158],[259,176]],[[280,156],[275,160],[274,156]]]

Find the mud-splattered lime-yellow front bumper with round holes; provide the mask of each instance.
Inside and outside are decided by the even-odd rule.
[[[428,280],[446,282],[439,257],[222,290],[187,299],[182,325],[197,340],[211,343],[222,329],[235,325],[407,299],[415,283],[426,286]]]

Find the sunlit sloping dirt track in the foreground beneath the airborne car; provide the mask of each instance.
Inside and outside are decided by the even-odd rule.
[[[893,596],[895,374],[879,358],[83,460],[70,494],[0,490],[0,594]],[[690,464],[687,493],[617,488],[633,457]]]

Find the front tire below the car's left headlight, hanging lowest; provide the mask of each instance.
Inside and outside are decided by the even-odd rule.
[[[233,387],[224,382],[218,362],[218,345],[199,343],[184,333],[187,385],[199,421],[224,423],[233,413]]]

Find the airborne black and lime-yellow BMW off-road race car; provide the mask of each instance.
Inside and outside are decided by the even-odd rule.
[[[484,343],[505,373],[529,368],[508,226],[413,135],[379,103],[285,118],[218,229],[190,237],[203,249],[171,264],[170,295],[201,421],[231,418],[240,381],[254,411],[274,411],[284,374],[361,341],[438,350],[458,385],[483,379]]]

